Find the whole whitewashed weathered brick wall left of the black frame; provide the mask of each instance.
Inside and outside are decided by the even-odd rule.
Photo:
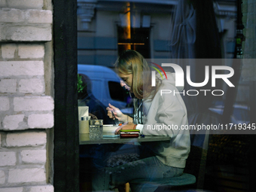
[[[0,0],[0,191],[53,191],[50,0]]]

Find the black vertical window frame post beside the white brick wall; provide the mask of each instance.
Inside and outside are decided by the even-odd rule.
[[[54,191],[79,191],[77,1],[53,0]]]

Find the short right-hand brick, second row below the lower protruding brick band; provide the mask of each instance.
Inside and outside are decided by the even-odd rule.
[[[20,154],[23,163],[46,162],[46,150],[24,150]]]

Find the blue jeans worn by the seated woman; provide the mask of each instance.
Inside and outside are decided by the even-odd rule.
[[[94,168],[93,191],[108,191],[136,178],[171,178],[183,173],[181,168],[166,166],[142,146],[123,145],[120,148],[129,148],[132,153],[115,151],[108,154],[108,160],[102,160],[106,166]],[[133,191],[143,191],[131,187]]]

